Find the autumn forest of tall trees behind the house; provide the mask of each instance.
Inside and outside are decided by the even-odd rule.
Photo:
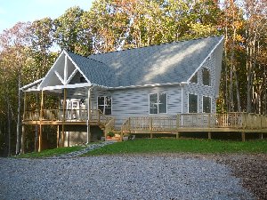
[[[44,77],[62,49],[88,56],[223,35],[217,112],[266,115],[266,8],[266,0],[95,0],[89,11],[19,21],[0,34],[0,156],[20,153],[20,87]],[[28,107],[36,103],[32,96]]]

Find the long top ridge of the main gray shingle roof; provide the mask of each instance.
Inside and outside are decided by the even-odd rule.
[[[220,35],[220,36],[223,36],[223,35]],[[127,48],[127,49],[122,49],[120,51],[99,52],[99,53],[93,53],[93,54],[89,55],[89,57],[90,56],[94,56],[94,55],[108,54],[108,53],[114,53],[114,52],[124,52],[124,51],[135,50],[135,49],[143,49],[143,48],[148,48],[148,47],[152,47],[152,46],[159,46],[159,45],[165,45],[165,44],[174,44],[174,43],[190,42],[192,40],[207,39],[207,38],[211,38],[211,37],[219,37],[219,36],[206,36],[206,37],[202,36],[202,37],[193,38],[193,39],[184,39],[184,40],[166,42],[166,43],[161,43],[161,44],[152,44],[152,45],[149,45],[149,46],[141,46],[141,47]]]

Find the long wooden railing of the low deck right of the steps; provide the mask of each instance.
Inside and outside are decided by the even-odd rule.
[[[267,116],[247,113],[134,116],[125,120],[121,131],[174,131],[182,128],[267,129]]]

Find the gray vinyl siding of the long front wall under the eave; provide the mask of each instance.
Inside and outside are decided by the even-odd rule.
[[[150,115],[149,98],[150,93],[167,94],[167,113]],[[182,92],[181,87],[162,86],[124,89],[115,91],[94,90],[92,94],[93,108],[97,108],[98,96],[111,96],[112,115],[116,118],[116,129],[120,129],[121,124],[130,116],[166,116],[176,115],[182,112]]]

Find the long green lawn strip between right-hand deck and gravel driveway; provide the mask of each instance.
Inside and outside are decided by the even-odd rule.
[[[84,156],[146,153],[267,153],[267,140],[249,140],[245,142],[182,139],[129,140],[94,149]]]

